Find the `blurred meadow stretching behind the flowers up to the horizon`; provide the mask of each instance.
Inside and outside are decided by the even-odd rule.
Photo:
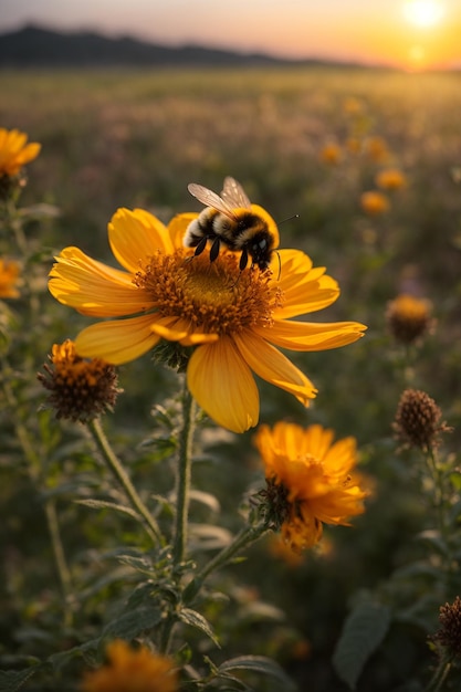
[[[310,408],[259,381],[260,421],[319,423],[339,439],[353,436],[370,495],[352,526],[325,526],[317,547],[290,554],[265,537],[244,560],[219,572],[213,586],[223,596],[205,602],[202,615],[221,648],[193,630],[193,653],[185,648],[180,656],[196,665],[197,657],[219,664],[227,657],[266,656],[300,691],[342,692],[355,683],[359,692],[459,690],[455,663],[446,686],[427,685],[438,667],[428,637],[439,628],[439,608],[461,591],[461,75],[339,67],[28,70],[0,72],[0,125],[42,144],[27,167],[21,207],[59,209],[25,227],[40,327],[21,322],[21,298],[4,301],[22,325],[8,354],[21,381],[18,416],[38,454],[45,442],[52,453],[39,474],[28,471],[4,399],[0,668],[11,674],[4,673],[0,689],[19,689],[12,671],[97,638],[137,584],[115,557],[121,536],[139,546],[132,518],[75,503],[93,496],[91,490],[114,500],[109,479],[82,449],[77,426],[36,413],[46,395],[31,374],[53,343],[75,338],[94,322],[49,294],[53,256],[76,245],[114,264],[107,222],[117,208],[139,207],[168,222],[201,209],[189,182],[219,192],[232,176],[281,224],[281,248],[303,250],[339,282],[340,297],[318,319],[368,326],[363,339],[344,348],[291,355],[318,389]],[[394,186],[379,182],[389,170],[400,175]],[[378,201],[367,207],[366,192],[377,192]],[[389,303],[400,294],[430,305],[430,328],[412,343],[401,343],[389,326]],[[21,380],[24,371],[28,381]],[[147,355],[119,367],[118,376],[124,392],[104,419],[107,434],[138,490],[168,493],[174,471],[153,407],[168,408],[176,375]],[[395,437],[392,421],[408,388],[433,398],[453,428],[443,436],[436,475],[421,450],[402,449]],[[239,530],[242,499],[263,480],[253,436],[210,421],[197,436],[192,487],[217,502],[192,501],[196,527],[214,522],[223,532]],[[59,516],[72,622],[63,616],[43,518],[46,496]],[[386,615],[379,610],[376,622],[367,621],[365,643],[357,636],[350,644],[350,671],[338,642],[357,602]],[[373,633],[376,647],[363,653],[362,664],[357,650],[367,649]],[[62,668],[54,663],[53,674],[41,670],[21,689],[78,689],[84,654]],[[285,690],[270,678],[254,682],[252,674],[243,675],[248,688],[229,682],[209,689]]]

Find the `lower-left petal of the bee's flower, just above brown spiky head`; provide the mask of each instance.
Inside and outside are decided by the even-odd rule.
[[[150,326],[151,315],[99,322],[78,334],[75,350],[85,358],[103,358],[112,365],[122,365],[139,358],[160,340]]]

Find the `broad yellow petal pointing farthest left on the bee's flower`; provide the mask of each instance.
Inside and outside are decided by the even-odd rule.
[[[65,248],[50,272],[51,294],[83,315],[117,317],[153,307],[148,291],[133,276],[93,260],[78,248]]]

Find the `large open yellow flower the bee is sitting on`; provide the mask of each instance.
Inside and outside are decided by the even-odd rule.
[[[239,253],[192,256],[182,245],[197,214],[166,228],[147,211],[119,209],[108,224],[112,251],[126,271],[97,262],[77,248],[56,258],[50,291],[101,322],[76,338],[78,354],[118,365],[166,339],[190,348],[189,390],[219,424],[243,432],[259,418],[253,373],[307,406],[316,390],[276,346],[323,350],[355,342],[364,325],[290,319],[326,307],[339,295],[324,268],[297,250],[281,250],[273,271],[239,270]],[[280,266],[279,266],[280,259]]]

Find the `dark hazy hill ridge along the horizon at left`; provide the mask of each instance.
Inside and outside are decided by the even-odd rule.
[[[259,53],[238,53],[199,45],[171,48],[129,36],[109,39],[78,31],[62,33],[35,25],[0,34],[0,66],[109,65],[275,65],[319,64],[321,61],[281,60]]]

